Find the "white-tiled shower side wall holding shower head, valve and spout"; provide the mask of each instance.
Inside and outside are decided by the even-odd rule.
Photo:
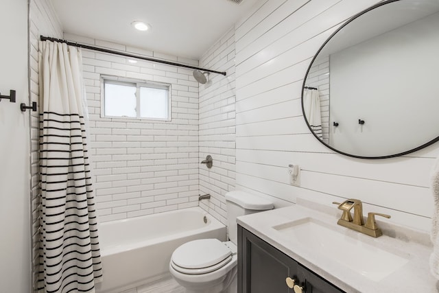
[[[200,193],[211,194],[200,207],[226,224],[224,195],[235,189],[235,27],[206,51],[200,67],[227,73],[211,73],[199,87],[200,161],[213,157],[211,169],[200,165]]]

